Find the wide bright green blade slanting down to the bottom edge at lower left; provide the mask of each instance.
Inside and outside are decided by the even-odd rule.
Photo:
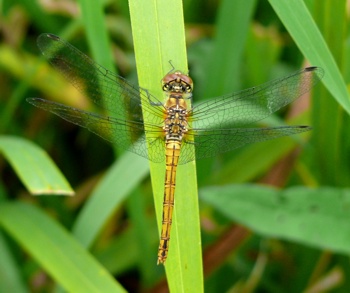
[[[67,231],[36,207],[4,203],[0,225],[67,291],[125,292]]]

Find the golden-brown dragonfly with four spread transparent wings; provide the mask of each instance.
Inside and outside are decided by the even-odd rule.
[[[193,81],[181,71],[173,69],[162,79],[165,102],[161,102],[148,90],[105,69],[58,36],[41,34],[37,44],[51,65],[107,114],[41,98],[29,98],[29,103],[150,161],[165,161],[158,264],[165,263],[169,251],[177,166],[250,143],[310,130],[305,125],[255,125],[310,91],[324,75],[319,67],[307,67],[190,107]]]

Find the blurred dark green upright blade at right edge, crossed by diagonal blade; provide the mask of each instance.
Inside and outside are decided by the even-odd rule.
[[[329,48],[339,67],[344,69],[344,37],[347,21],[345,1],[317,1],[315,17],[325,36]],[[330,21],[332,19],[332,21]],[[343,168],[344,158],[348,153],[342,138],[348,135],[345,111],[331,98],[322,87],[317,88],[312,100],[312,126],[314,128],[312,140],[315,145],[314,156],[317,164],[316,174],[322,185],[336,183],[346,186],[349,173]],[[332,123],[329,123],[332,121]],[[322,135],[320,135],[322,134]],[[321,183],[320,183],[321,184]]]

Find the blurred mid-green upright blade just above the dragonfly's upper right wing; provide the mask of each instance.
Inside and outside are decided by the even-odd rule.
[[[243,50],[255,6],[255,0],[222,2],[213,50],[207,59],[205,97],[216,97],[238,89]]]

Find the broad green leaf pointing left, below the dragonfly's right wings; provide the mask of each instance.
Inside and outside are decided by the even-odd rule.
[[[261,235],[350,254],[349,189],[228,185],[203,188],[200,196]]]

